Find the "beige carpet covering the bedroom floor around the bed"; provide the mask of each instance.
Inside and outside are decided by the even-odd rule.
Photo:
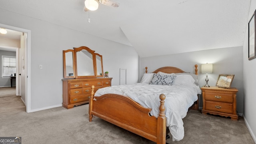
[[[20,136],[22,144],[155,144],[100,118],[88,121],[88,104],[26,113],[19,96],[0,98],[0,136]],[[185,137],[169,144],[254,144],[239,121],[190,110],[183,119]]]

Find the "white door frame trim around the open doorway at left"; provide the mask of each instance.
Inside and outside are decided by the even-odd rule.
[[[31,111],[31,30],[27,30],[24,28],[18,28],[15,26],[9,26],[6,24],[1,24],[1,28],[6,28],[9,30],[15,30],[19,32],[27,33],[27,45],[25,47],[25,102],[26,102],[26,112]]]

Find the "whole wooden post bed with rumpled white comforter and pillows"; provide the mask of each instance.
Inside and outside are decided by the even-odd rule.
[[[195,65],[195,74],[194,75],[197,75],[197,71],[198,71],[197,67],[198,67],[198,65]],[[144,77],[145,74],[146,75],[153,74],[153,78],[152,79],[151,79],[151,77],[145,78]],[[102,118],[103,120],[106,120],[112,124],[115,124],[116,126],[119,126],[126,130],[129,130],[130,132],[138,134],[144,138],[152,140],[153,142],[156,142],[157,144],[166,144],[166,136],[167,136],[166,134],[168,133],[168,129],[170,129],[170,127],[172,128],[172,126],[173,126],[173,124],[172,124],[172,126],[170,125],[169,121],[172,121],[172,119],[174,119],[174,117],[175,117],[175,114],[179,113],[179,112],[176,112],[174,115],[169,114],[168,108],[170,107],[170,104],[166,103],[167,108],[165,106],[165,101],[169,102],[171,100],[174,100],[174,99],[170,99],[170,96],[169,96],[170,94],[165,92],[166,87],[169,88],[172,86],[164,85],[164,87],[162,88],[162,84],[159,84],[161,86],[156,88],[156,90],[155,89],[148,90],[148,91],[150,91],[150,93],[148,93],[148,94],[145,94],[145,90],[143,92],[141,92],[142,90],[137,90],[137,89],[135,89],[135,87],[147,87],[145,85],[153,86],[154,85],[153,79],[158,74],[160,74],[160,76],[163,76],[163,75],[166,76],[165,77],[166,79],[170,78],[171,76],[172,76],[172,78],[174,77],[174,80],[172,80],[172,82],[175,82],[175,78],[180,77],[180,76],[178,76],[179,74],[182,76],[185,76],[185,75],[191,76],[192,74],[186,73],[185,71],[183,71],[179,68],[171,67],[171,66],[158,68],[157,70],[155,70],[152,73],[148,73],[147,67],[146,67],[145,74],[142,78],[142,82],[136,84],[135,86],[130,85],[130,86],[128,86],[128,88],[126,88],[125,86],[119,86],[123,89],[122,90],[114,90],[114,91],[117,91],[117,93],[114,93],[111,90],[109,91],[108,88],[113,90],[114,89],[113,87],[118,87],[118,86],[111,86],[108,88],[102,88],[100,90],[97,90],[96,93],[94,94],[94,86],[92,86],[92,92],[91,92],[90,101],[89,101],[89,121],[92,122],[92,117],[94,115],[94,116]],[[151,85],[148,84],[148,81],[150,81]],[[152,84],[152,81],[153,81],[153,84]],[[178,82],[178,80],[177,80],[177,82]],[[194,79],[194,85],[196,85],[195,79]],[[185,89],[187,89],[187,88],[182,88],[182,86],[179,86],[179,88],[180,88],[179,91],[185,91]],[[142,95],[139,94],[139,96],[128,96],[129,94],[127,95],[126,93],[130,93],[130,92],[126,91],[126,89],[133,89],[134,91],[137,91],[137,92],[139,91],[143,94]],[[159,91],[161,91],[161,90],[163,92],[162,92],[162,94],[159,94]],[[200,90],[200,88],[199,88],[199,90]],[[123,91],[125,91],[125,92],[123,94],[121,94],[120,92],[123,92]],[[152,91],[156,91],[156,93],[152,94],[151,93]],[[176,91],[176,92],[179,93],[179,91]],[[184,116],[186,116],[186,112],[188,111],[188,109],[192,108],[194,110],[198,110],[198,94],[200,94],[200,92],[197,90],[196,93],[197,93],[196,99],[193,98],[192,104],[191,104],[191,100],[189,100],[190,102],[188,102],[188,103],[190,103],[189,105],[183,106],[183,103],[184,103],[183,101],[182,101],[182,104],[180,104],[180,105],[182,105],[182,108],[183,107],[186,108],[185,112],[184,112],[184,110],[181,112],[183,115],[183,116],[180,116],[181,119],[184,118]],[[134,93],[134,92],[131,92],[131,94],[137,95],[137,93]],[[157,102],[152,102],[152,103],[156,103],[152,108],[150,108],[150,106],[145,104],[145,103],[149,103],[149,102],[144,102],[144,103],[142,102],[142,100],[144,100],[144,98],[146,96],[149,96],[151,99],[156,100],[156,98],[155,98],[156,94],[159,94],[157,96],[159,98],[157,99]],[[151,97],[151,95],[152,95],[152,97]],[[192,95],[195,95],[195,94],[192,94]],[[136,98],[137,98],[137,100],[136,100]],[[140,99],[139,102],[138,102],[138,99]],[[178,101],[179,100],[177,100],[177,102]],[[188,101],[188,100],[185,100],[185,101]],[[178,104],[176,104],[176,105],[178,105]],[[177,107],[181,107],[181,106],[177,106]],[[156,109],[158,109],[158,110],[156,110]],[[168,111],[168,112],[166,113],[166,111]],[[175,111],[175,110],[173,110],[173,111]],[[180,118],[178,118],[178,119],[180,119]],[[166,122],[167,122],[167,125],[170,125],[167,128],[166,128],[166,126],[167,126]],[[179,120],[178,121],[174,120],[174,123],[175,122],[181,123],[182,124],[181,127],[183,128],[182,120],[181,120],[181,122]],[[176,127],[176,129],[180,129],[180,130],[182,128]],[[174,129],[175,129],[175,126],[174,126]],[[167,130],[167,132],[166,132],[166,130]],[[175,134],[175,132],[173,132],[173,130],[170,129],[170,131],[171,131],[173,140],[180,140],[184,136],[184,129],[183,129],[183,136],[179,136],[179,134],[180,134],[179,132],[178,132],[178,134]],[[180,138],[176,138],[177,136]]]

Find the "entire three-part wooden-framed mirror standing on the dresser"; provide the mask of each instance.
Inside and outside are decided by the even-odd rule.
[[[64,78],[96,78],[103,75],[102,55],[86,46],[63,50]]]

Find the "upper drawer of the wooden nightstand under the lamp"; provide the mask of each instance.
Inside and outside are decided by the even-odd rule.
[[[233,95],[232,94],[222,94],[222,93],[205,93],[205,100],[214,100],[218,102],[233,102]]]

